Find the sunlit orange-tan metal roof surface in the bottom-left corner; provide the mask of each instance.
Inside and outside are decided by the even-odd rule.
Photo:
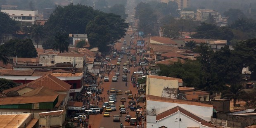
[[[20,128],[31,114],[3,114],[0,115],[0,128]],[[19,126],[18,126],[19,122]]]

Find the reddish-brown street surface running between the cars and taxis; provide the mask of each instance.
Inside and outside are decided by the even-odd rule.
[[[131,33],[130,33],[131,34]],[[116,43],[115,48],[117,50],[121,50],[121,47],[126,47],[126,45],[123,45],[123,40],[127,41],[127,44],[130,43],[130,35],[126,35],[125,38],[122,38],[122,43]],[[126,52],[128,52],[129,50],[126,50]],[[133,52],[135,52],[135,50],[130,50],[131,54],[133,54]],[[139,58],[137,57],[137,60]],[[135,94],[137,94],[137,88],[133,88],[133,85],[131,84],[130,78],[131,75],[133,73],[133,71],[137,71],[138,67],[135,67],[135,69],[133,67],[130,67],[130,73],[127,73],[128,76],[128,86],[125,86],[125,82],[122,81],[122,74],[123,74],[123,63],[128,61],[127,56],[124,55],[124,58],[122,59],[121,62],[121,66],[120,66],[120,76],[119,76],[119,80],[117,82],[112,82],[112,76],[115,76],[115,72],[114,70],[111,71],[111,73],[109,74],[109,82],[104,82],[104,84],[102,85],[102,87],[104,88],[104,92],[102,93],[102,97],[106,96],[106,102],[108,102],[109,99],[109,95],[111,95],[111,92],[109,95],[107,95],[107,90],[110,90],[110,88],[115,88],[116,90],[122,90],[123,91],[123,95],[117,95],[116,99],[117,102],[115,103],[116,105],[116,109],[117,111],[112,111],[110,112],[110,117],[104,117],[103,118],[103,114],[98,114],[98,115],[91,115],[90,119],[89,119],[89,124],[91,124],[92,128],[100,128],[101,126],[104,126],[105,128],[119,128],[120,124],[123,123],[123,125],[129,125],[128,122],[125,122],[125,116],[127,114],[123,114],[120,118],[120,122],[113,122],[113,115],[120,115],[120,111],[119,111],[119,105],[121,104],[120,99],[121,97],[125,97],[126,98],[126,103],[125,106],[127,107],[128,102],[130,101],[130,99],[127,99],[127,95],[125,94],[126,90],[131,90],[133,92],[133,96]],[[116,64],[117,62],[117,58],[115,59],[111,59],[111,64]],[[128,66],[127,66],[128,67]],[[117,71],[117,69],[116,69]],[[105,76],[108,76],[108,74],[105,74]],[[136,99],[134,99],[136,100]],[[102,107],[102,103],[99,103],[99,106]],[[143,103],[140,103],[140,106],[143,106]],[[129,111],[129,115],[131,115],[132,117],[135,117],[136,112],[135,111]]]

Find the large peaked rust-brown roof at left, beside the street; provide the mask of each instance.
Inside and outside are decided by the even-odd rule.
[[[22,88],[36,89],[42,86],[45,86],[46,88],[50,88],[51,90],[65,91],[65,92],[71,88],[71,85],[69,85],[68,83],[56,78],[55,76],[52,76],[51,74],[47,74],[46,76],[40,77],[35,81],[31,81],[30,83],[26,83],[24,85],[19,85],[14,88],[3,90],[2,92],[6,94],[9,91],[17,91]]]

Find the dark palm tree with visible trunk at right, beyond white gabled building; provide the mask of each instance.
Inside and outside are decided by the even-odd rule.
[[[228,90],[225,90],[222,92],[221,94],[221,99],[229,99],[229,100],[234,100],[233,102],[233,106],[236,106],[236,102],[237,100],[240,99],[240,94],[241,94],[241,90],[242,90],[242,85],[231,85],[230,88]]]

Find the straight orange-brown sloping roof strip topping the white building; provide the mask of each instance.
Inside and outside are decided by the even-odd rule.
[[[203,104],[200,102],[171,99],[171,98],[166,98],[166,97],[158,97],[158,96],[154,96],[154,95],[147,95],[146,97],[147,97],[147,100],[158,101],[158,102],[169,102],[169,103],[176,103],[176,104],[187,104],[187,105],[195,105],[195,106],[212,107],[213,108],[213,105]]]

